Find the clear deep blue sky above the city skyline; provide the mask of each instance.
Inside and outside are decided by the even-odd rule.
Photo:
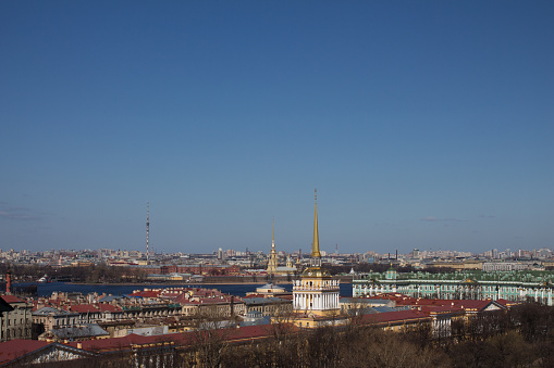
[[[0,248],[554,248],[552,1],[1,1]]]

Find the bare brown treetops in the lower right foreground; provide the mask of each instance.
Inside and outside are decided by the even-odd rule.
[[[554,367],[554,308],[529,302],[485,312],[453,320],[443,335],[429,322],[403,332],[350,325],[220,352],[218,367]]]

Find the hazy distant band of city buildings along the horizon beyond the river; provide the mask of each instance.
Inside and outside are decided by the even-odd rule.
[[[286,263],[306,265],[309,263],[309,253],[300,253],[301,250],[287,253],[276,252],[278,264],[286,266]],[[51,250],[45,252],[32,252],[28,250],[0,250],[0,262],[19,266],[52,267],[86,267],[98,264],[125,268],[159,269],[171,265],[198,267],[205,265],[204,272],[209,275],[210,267],[232,269],[229,275],[268,274],[267,265],[270,250],[236,251],[218,249],[211,253],[150,253],[147,261],[146,251],[127,250]],[[554,267],[552,251],[547,248],[538,250],[489,250],[479,254],[458,251],[432,251],[414,249],[407,254],[398,254],[393,250],[390,253],[328,253],[321,251],[323,263],[331,266],[344,266],[357,268],[372,264],[391,264],[414,269],[444,267],[453,269],[481,269],[481,270],[546,270]],[[495,268],[496,267],[496,268]],[[500,267],[500,268],[498,268]],[[153,272],[152,272],[153,274]],[[224,274],[223,274],[224,275]]]

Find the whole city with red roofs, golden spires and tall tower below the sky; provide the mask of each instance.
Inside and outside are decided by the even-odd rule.
[[[542,334],[526,337],[525,344],[532,347],[533,339],[541,341],[551,329],[542,325],[554,307],[554,259],[547,249],[491,250],[480,255],[417,249],[407,255],[327,254],[319,244],[317,192],[309,254],[278,252],[274,226],[268,254],[222,249],[211,254],[149,254],[149,215],[146,224],[144,253],[106,249],[1,252],[5,269],[0,295],[1,363],[273,365],[282,354],[292,353],[272,345],[286,337],[288,350],[296,353],[281,364],[294,366],[308,359],[303,365],[320,366],[327,359],[344,361],[345,354],[350,358],[352,354],[346,350],[327,356],[324,343],[312,340],[318,331],[334,341],[353,334],[376,339],[372,344],[379,346],[383,338],[374,332],[368,335],[377,329],[389,333],[389,339],[395,335],[387,344],[395,339],[402,344],[424,339],[424,344],[435,346],[432,353],[415,351],[409,360],[402,357],[394,365],[409,366],[416,356],[447,365],[452,360],[440,354],[441,348],[463,354],[460,346],[475,339],[531,333],[529,329],[541,326]],[[280,259],[286,259],[285,264]],[[33,279],[44,270],[50,275]],[[108,288],[100,289],[98,283]],[[352,284],[352,294],[342,284]],[[233,294],[221,291],[230,285]],[[87,288],[94,291],[85,293]],[[541,317],[529,323],[531,314]],[[322,351],[312,356],[300,348],[305,339]],[[36,342],[34,347],[27,340]],[[260,344],[264,353],[257,351]],[[226,352],[225,346],[235,350]],[[238,346],[251,354],[236,360]],[[269,356],[268,350],[272,351]],[[549,356],[538,351],[507,356],[550,364]],[[465,358],[475,356],[466,353]],[[376,357],[371,365],[381,359]]]

